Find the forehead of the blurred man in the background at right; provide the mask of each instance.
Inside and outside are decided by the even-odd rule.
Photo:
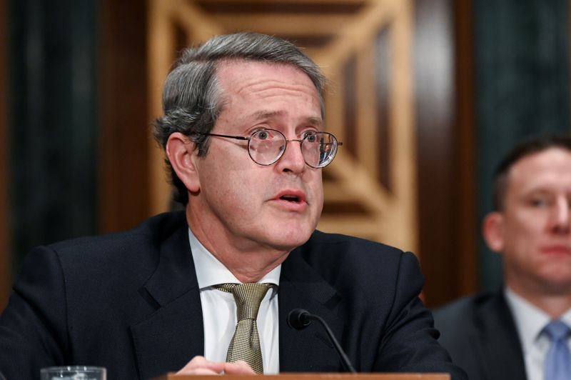
[[[571,191],[571,151],[549,148],[518,160],[508,174],[508,191]]]

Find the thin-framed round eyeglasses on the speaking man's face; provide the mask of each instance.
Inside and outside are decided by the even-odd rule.
[[[204,134],[205,136],[224,137],[226,139],[248,141],[250,158],[263,166],[271,165],[281,159],[290,141],[298,141],[305,164],[314,169],[328,166],[337,154],[337,147],[343,145],[333,134],[327,132],[306,131],[302,139],[285,139],[285,136],[275,129],[259,129],[250,137],[228,136],[227,134]]]

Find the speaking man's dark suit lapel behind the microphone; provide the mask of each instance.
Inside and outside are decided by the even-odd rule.
[[[278,294],[280,371],[341,371],[333,344],[318,322],[301,331],[287,324],[290,311],[300,308],[325,319],[338,339],[343,333],[343,323],[335,315],[340,297],[303,259],[302,249],[292,251],[283,262]]]

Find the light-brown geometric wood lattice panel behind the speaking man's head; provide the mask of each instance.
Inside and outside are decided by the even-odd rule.
[[[340,141],[323,171],[318,229],[418,254],[413,5],[408,0],[148,0],[149,119],[183,46],[257,31],[292,41],[328,78],[326,129]],[[151,149],[151,211],[166,211],[163,152]]]

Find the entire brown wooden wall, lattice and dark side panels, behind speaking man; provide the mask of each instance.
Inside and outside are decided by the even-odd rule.
[[[429,305],[474,290],[473,15],[470,1],[458,3],[101,1],[99,231],[126,229],[168,208],[170,191],[160,162],[162,153],[149,129],[153,116],[160,114],[156,96],[176,51],[213,34],[266,31],[306,46],[333,79],[333,91],[327,95],[328,128],[345,145],[325,171],[328,204],[320,228],[334,231],[344,224],[348,228],[341,231],[414,250],[427,279]],[[0,6],[2,37],[7,33],[6,0],[0,0]],[[168,6],[175,6],[175,11],[160,17],[156,8]],[[300,15],[300,9],[309,16]],[[276,13],[280,18],[268,16]],[[443,24],[437,30],[423,29],[428,34],[427,49],[419,50],[418,28],[434,19]],[[448,55],[435,56],[433,48],[443,43],[448,44]],[[6,44],[0,46],[2,72],[7,71],[6,49]],[[430,59],[441,61],[427,66]],[[442,91],[430,82],[422,87],[419,79],[431,76],[446,81],[438,88]],[[9,112],[6,78],[7,74],[0,74],[1,121],[7,120]],[[434,106],[447,101],[448,106]],[[0,122],[0,179],[7,178],[9,166],[6,125]],[[9,271],[8,184],[0,182],[1,301],[11,279],[4,274]],[[441,207],[433,211],[433,206]]]

